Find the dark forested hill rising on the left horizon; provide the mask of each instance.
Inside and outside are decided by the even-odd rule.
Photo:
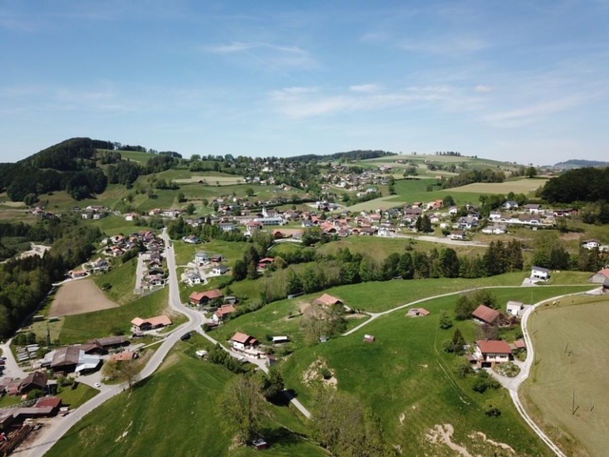
[[[141,174],[171,168],[175,152],[159,152],[143,167],[123,160],[118,143],[70,138],[17,163],[0,163],[0,192],[31,205],[40,194],[67,191],[80,200],[104,192],[108,183],[129,187]],[[125,146],[131,147],[131,146]]]

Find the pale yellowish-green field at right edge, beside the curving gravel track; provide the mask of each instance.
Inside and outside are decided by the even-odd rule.
[[[543,306],[529,328],[537,364],[521,388],[527,412],[566,455],[607,455],[609,297]]]

